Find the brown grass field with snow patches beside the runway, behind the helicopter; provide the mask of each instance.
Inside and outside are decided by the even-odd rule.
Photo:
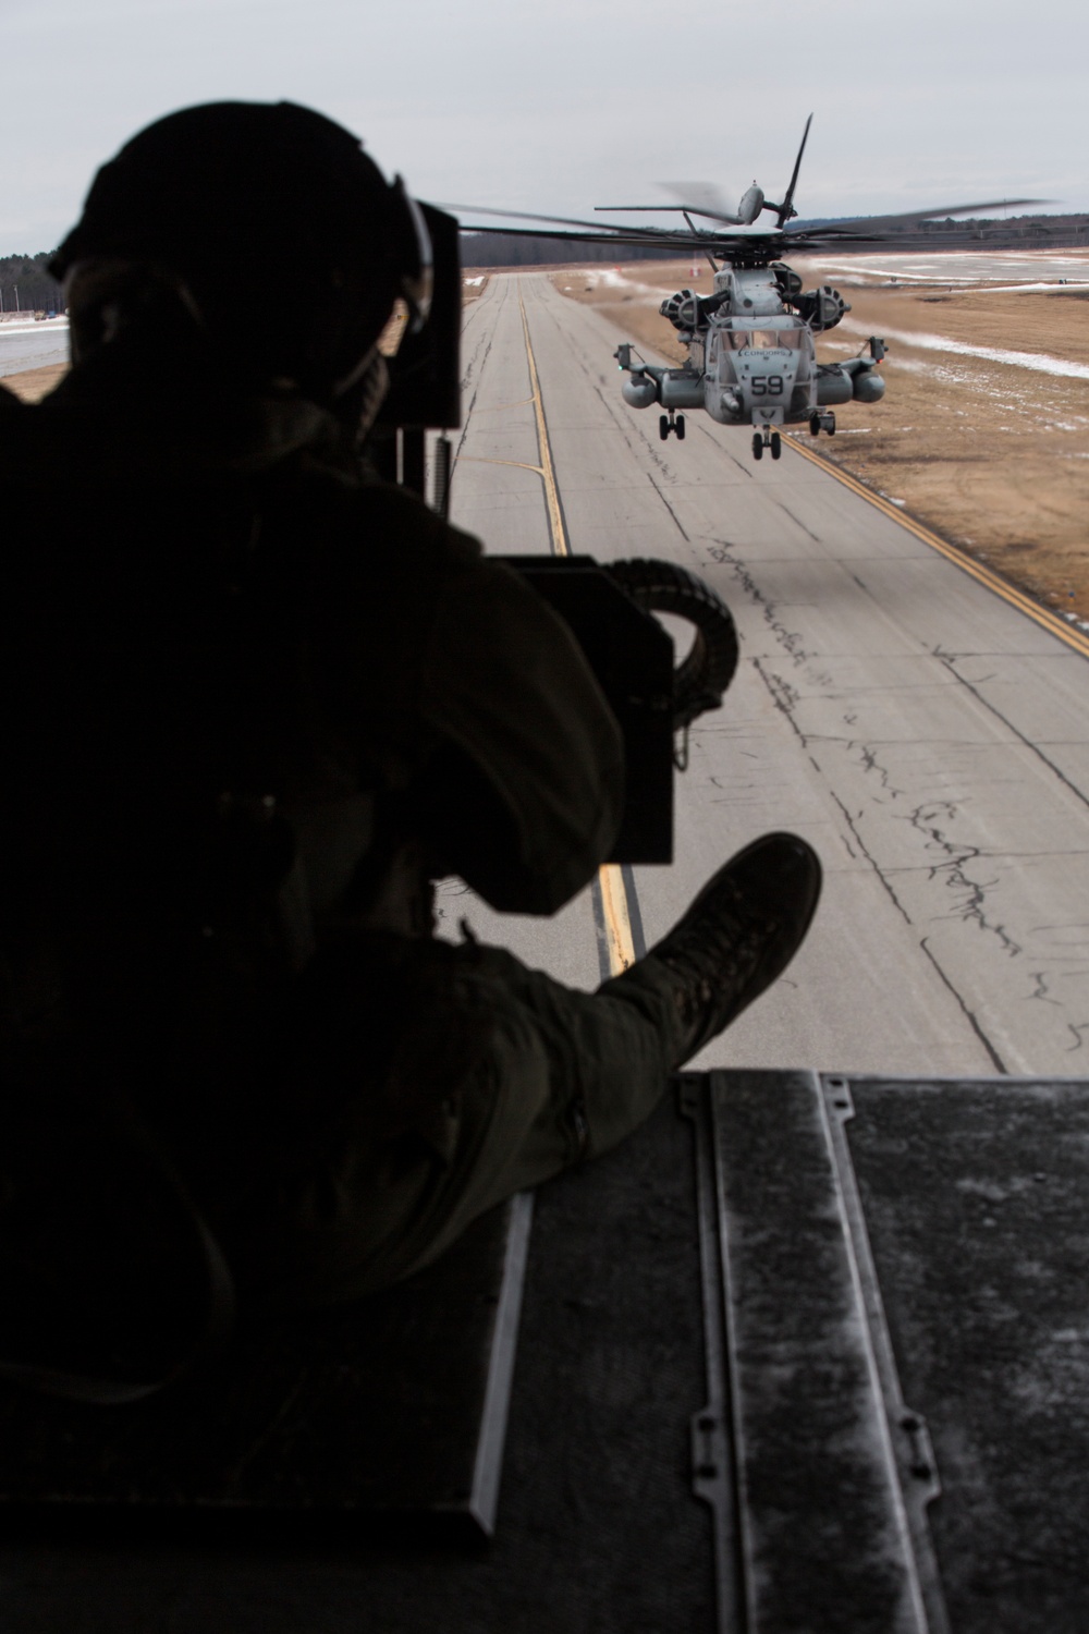
[[[1089,288],[1081,284],[1089,255],[1065,261],[1071,283],[1050,271],[1043,289],[1012,289],[1001,265],[980,283],[932,276],[909,286],[873,271],[872,258],[857,270],[847,258],[834,270],[792,265],[807,288],[834,283],[852,307],[818,340],[821,361],[857,355],[872,333],[890,342],[885,400],[838,408],[834,440],[811,446],[1030,595],[1089,619]],[[643,261],[570,266],[552,278],[637,345],[679,363],[684,348],[658,304],[684,286],[709,294],[710,268],[691,275],[689,261]],[[1022,266],[1017,276],[1025,278]],[[980,351],[1029,353],[1040,364]],[[1081,377],[1061,373],[1069,364]],[[805,428],[798,435],[810,446]]]

